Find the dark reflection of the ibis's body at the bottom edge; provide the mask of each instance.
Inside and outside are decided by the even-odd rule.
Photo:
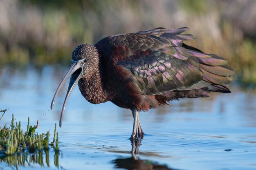
[[[166,165],[161,165],[150,160],[134,159],[134,157],[119,157],[112,161],[115,168],[124,168],[127,170],[173,170]]]

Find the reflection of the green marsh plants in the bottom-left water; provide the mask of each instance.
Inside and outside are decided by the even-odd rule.
[[[44,156],[45,155],[45,156]],[[45,157],[45,159],[44,159]],[[54,165],[58,168],[59,167],[59,152],[55,152],[54,154]],[[11,167],[12,169],[18,170],[19,166],[33,166],[33,165],[40,165],[40,166],[47,166],[50,167],[49,164],[49,150],[35,152],[34,154],[28,152],[22,152],[17,155],[11,156],[0,156],[0,163],[6,163],[7,166]],[[2,168],[2,167],[0,167]]]

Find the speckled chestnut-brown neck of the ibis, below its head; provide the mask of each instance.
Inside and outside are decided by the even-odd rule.
[[[85,78],[81,78],[78,82],[79,90],[83,97],[92,104],[100,104],[106,102],[107,92],[103,89],[101,82],[101,74],[99,70]]]

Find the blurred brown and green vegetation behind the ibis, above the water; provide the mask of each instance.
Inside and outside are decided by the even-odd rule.
[[[79,44],[183,26],[188,44],[229,61],[235,82],[256,84],[255,0],[0,0],[0,68],[70,65]]]

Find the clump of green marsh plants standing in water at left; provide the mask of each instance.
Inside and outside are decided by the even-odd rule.
[[[0,157],[22,152],[35,153],[37,151],[47,151],[49,150],[49,146],[54,148],[55,152],[58,152],[58,133],[57,137],[55,137],[56,124],[54,139],[51,144],[49,144],[49,131],[42,134],[35,133],[36,128],[38,128],[38,123],[37,121],[35,126],[30,126],[28,118],[27,131],[24,133],[21,129],[21,123],[16,122],[15,124],[14,115],[12,115],[9,128],[6,125],[3,128],[0,127]],[[55,140],[56,142],[54,144]]]

